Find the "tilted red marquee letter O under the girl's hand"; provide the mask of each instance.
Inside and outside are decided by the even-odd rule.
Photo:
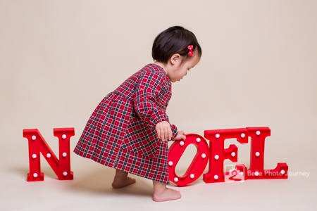
[[[168,174],[170,180],[179,186],[185,186],[198,179],[204,172],[209,158],[208,143],[202,136],[197,134],[187,134],[185,136],[185,141],[175,141],[168,151]],[[194,144],[197,147],[197,153],[185,174],[182,177],[178,177],[175,174],[175,167],[189,144]]]

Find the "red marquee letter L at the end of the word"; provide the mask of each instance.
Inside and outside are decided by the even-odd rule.
[[[279,162],[274,170],[264,169],[264,142],[271,135],[268,127],[247,127],[251,137],[251,165],[247,179],[287,179],[288,166]]]

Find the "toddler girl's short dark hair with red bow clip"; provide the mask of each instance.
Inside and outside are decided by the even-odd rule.
[[[197,52],[200,57],[201,47],[194,33],[180,26],[169,27],[154,39],[152,57],[158,62],[168,63],[170,57],[178,53],[182,56],[183,62],[190,57],[188,56],[189,49],[187,49],[189,45],[193,46],[192,51],[194,51],[194,53]]]

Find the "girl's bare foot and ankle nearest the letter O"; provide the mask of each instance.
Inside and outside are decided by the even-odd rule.
[[[153,181],[153,186],[154,186],[153,200],[155,201],[175,200],[182,197],[180,195],[180,191],[166,188],[166,184],[163,184],[159,181]]]

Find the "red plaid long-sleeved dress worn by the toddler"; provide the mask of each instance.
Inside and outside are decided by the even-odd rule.
[[[84,158],[140,177],[169,184],[168,143],[155,126],[168,121],[172,96],[166,72],[146,65],[99,103],[89,118],[74,152]],[[173,137],[177,134],[171,125]]]

